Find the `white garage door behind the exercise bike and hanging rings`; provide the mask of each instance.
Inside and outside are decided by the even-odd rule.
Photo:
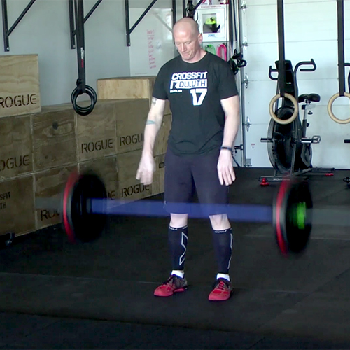
[[[260,143],[266,137],[270,120],[268,106],[276,94],[276,82],[269,80],[269,66],[278,60],[277,6],[276,0],[246,0],[242,13],[242,35],[248,41],[244,58],[248,64],[244,72],[250,84],[245,90],[246,116],[250,118],[251,131],[247,133],[247,158],[253,167],[270,167],[267,144]],[[336,0],[285,0],[286,59],[293,66],[300,61],[314,58],[314,72],[298,73],[299,94],[317,93],[321,102],[316,104],[314,115],[308,118],[307,136],[321,135],[321,144],[314,144],[314,167],[350,168],[350,147],[344,139],[350,138],[350,124],[339,125],[327,113],[328,100],[338,92],[337,80],[337,3]],[[350,0],[344,1],[345,62],[350,62]],[[346,68],[346,91],[347,74]],[[339,118],[350,117],[349,99],[342,97],[335,102]]]

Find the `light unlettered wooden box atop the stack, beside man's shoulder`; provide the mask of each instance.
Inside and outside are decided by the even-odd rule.
[[[148,99],[148,109],[152,104],[155,76],[118,77],[97,80],[99,99]],[[169,101],[165,104],[165,114],[170,111]]]

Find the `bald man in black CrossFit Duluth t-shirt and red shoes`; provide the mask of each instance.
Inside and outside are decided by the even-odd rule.
[[[200,203],[228,204],[228,186],[235,181],[232,145],[239,129],[239,97],[228,62],[201,48],[202,34],[192,18],[176,22],[173,35],[180,56],[162,66],[156,78],[137,170],[141,183],[152,183],[153,146],[165,100],[169,99],[172,129],[165,155],[165,208],[170,213],[172,273],[155,289],[154,294],[160,297],[188,288],[184,273],[188,214],[181,210],[180,203],[190,202],[196,190]],[[209,300],[228,300],[232,293],[229,274],[232,229],[228,216],[217,212],[215,205],[207,214],[218,263]]]

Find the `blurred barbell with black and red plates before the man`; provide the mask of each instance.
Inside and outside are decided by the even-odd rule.
[[[276,243],[283,255],[306,248],[313,223],[350,225],[349,211],[314,209],[309,183],[283,179],[272,206],[260,204],[177,203],[176,212],[190,218],[207,218],[210,211],[223,210],[230,221],[272,223]],[[215,208],[214,208],[215,207]],[[102,235],[107,216],[169,216],[165,204],[156,200],[123,202],[107,199],[104,181],[94,172],[69,176],[59,200],[37,199],[36,208],[55,209],[72,243],[93,241]]]

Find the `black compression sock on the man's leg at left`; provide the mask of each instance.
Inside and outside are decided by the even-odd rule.
[[[188,243],[188,227],[172,228],[169,226],[168,241],[172,256],[172,269],[183,270]]]

